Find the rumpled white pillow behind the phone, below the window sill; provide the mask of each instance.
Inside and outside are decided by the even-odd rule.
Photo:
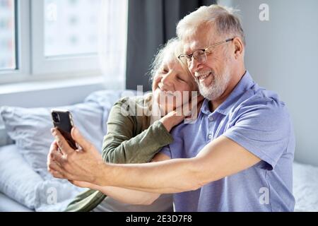
[[[92,93],[77,105],[58,107],[69,109],[74,124],[83,136],[101,150],[108,114],[122,91],[103,90]],[[8,136],[16,142],[18,150],[30,166],[43,179],[51,179],[47,172],[47,154],[53,141],[51,108],[1,107],[0,114]]]

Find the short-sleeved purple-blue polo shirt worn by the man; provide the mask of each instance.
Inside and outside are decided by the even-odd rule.
[[[173,143],[161,150],[171,158],[195,157],[226,136],[261,162],[196,191],[174,194],[176,211],[293,211],[295,137],[290,115],[278,95],[260,88],[248,72],[214,112],[208,100],[194,124],[172,130]]]

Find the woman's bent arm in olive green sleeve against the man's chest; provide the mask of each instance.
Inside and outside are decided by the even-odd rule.
[[[147,128],[145,125],[149,124],[148,117],[122,114],[127,99],[122,99],[112,107],[102,146],[102,158],[112,163],[150,162],[160,148],[172,143],[173,138],[167,129],[172,127],[173,121],[155,121]],[[136,134],[139,131],[142,132]]]

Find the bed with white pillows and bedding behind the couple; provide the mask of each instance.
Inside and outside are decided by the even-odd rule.
[[[101,146],[110,109],[123,95],[127,93],[101,90],[83,102],[59,108],[69,109],[83,135]],[[15,143],[0,147],[0,211],[62,211],[85,190],[47,172],[52,142],[49,110],[1,107],[6,132]],[[294,162],[293,176],[295,211],[318,211],[318,167]]]

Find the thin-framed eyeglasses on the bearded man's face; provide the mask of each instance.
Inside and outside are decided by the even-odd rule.
[[[223,44],[225,42],[231,42],[234,40],[233,38],[230,38],[228,40],[224,40],[221,42],[217,42],[216,44],[211,45],[211,47],[207,47],[206,49],[197,49],[196,51],[192,52],[192,54],[181,54],[179,55],[179,60],[182,61],[184,64],[187,64],[187,66],[190,66],[192,63],[192,58],[196,59],[199,63],[204,63],[207,60],[206,52],[208,50],[213,49],[214,47],[217,47],[219,44]]]

